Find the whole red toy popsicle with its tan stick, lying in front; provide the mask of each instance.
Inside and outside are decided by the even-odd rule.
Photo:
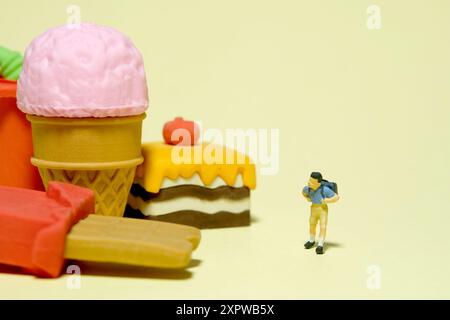
[[[89,215],[94,194],[51,182],[47,192],[0,187],[0,263],[57,277],[64,258],[182,268],[200,241],[195,228]]]

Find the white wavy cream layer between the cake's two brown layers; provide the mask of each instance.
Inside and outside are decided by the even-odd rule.
[[[145,202],[142,198],[130,194],[128,196],[128,204],[133,209],[139,209],[146,216],[158,216],[182,210],[194,210],[208,214],[227,211],[237,214],[250,210],[250,197],[240,200],[202,200],[195,197],[180,197],[165,201]]]

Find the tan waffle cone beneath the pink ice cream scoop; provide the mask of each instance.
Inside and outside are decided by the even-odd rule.
[[[118,118],[46,118],[27,115],[34,157],[45,187],[68,182],[95,193],[95,213],[123,216],[141,155],[145,114]]]

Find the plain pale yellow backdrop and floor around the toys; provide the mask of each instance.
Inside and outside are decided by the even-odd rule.
[[[80,290],[3,273],[1,298],[450,298],[449,1],[4,1],[1,45],[23,51],[72,3],[144,55],[144,140],[176,115],[279,128],[280,170],[258,177],[255,223],[204,231],[186,272],[83,264]],[[303,249],[312,170],[342,195],[324,256]]]

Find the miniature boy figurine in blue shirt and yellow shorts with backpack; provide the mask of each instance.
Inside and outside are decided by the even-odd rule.
[[[322,178],[320,172],[311,173],[308,185],[303,188],[303,196],[311,202],[311,217],[309,218],[309,240],[305,243],[305,249],[311,249],[316,240],[316,226],[320,222],[319,243],[316,253],[323,254],[325,235],[327,232],[328,206],[339,200],[337,184],[328,182]]]

